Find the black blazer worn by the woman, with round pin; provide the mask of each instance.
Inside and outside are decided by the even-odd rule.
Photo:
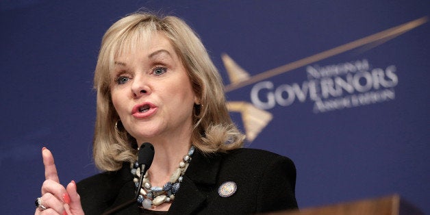
[[[134,199],[129,164],[116,172],[94,175],[77,184],[86,214],[101,214]],[[220,197],[225,181],[237,185]],[[168,214],[255,214],[297,208],[296,168],[288,157],[258,149],[203,155],[196,150]],[[138,214],[132,204],[118,214]]]

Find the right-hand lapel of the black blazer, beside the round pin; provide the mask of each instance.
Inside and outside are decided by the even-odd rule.
[[[196,150],[168,214],[192,214],[201,207],[205,203],[207,194],[199,190],[199,186],[216,184],[220,162],[219,154],[203,155]]]

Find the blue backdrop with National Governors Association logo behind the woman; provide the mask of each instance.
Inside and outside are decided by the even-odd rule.
[[[0,1],[1,214],[34,212],[44,146],[63,184],[97,173],[101,37],[142,7],[199,33],[246,147],[294,160],[300,207],[398,193],[430,214],[430,1],[418,0]]]

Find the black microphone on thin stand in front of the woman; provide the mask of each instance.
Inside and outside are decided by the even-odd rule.
[[[140,194],[140,189],[142,188],[142,180],[145,173],[147,173],[147,170],[149,167],[151,167],[152,160],[154,159],[154,146],[149,142],[144,142],[142,146],[140,146],[139,152],[138,152],[138,165],[140,167],[140,180],[139,180],[139,186],[138,190],[136,191],[136,197],[134,199],[131,199],[130,201],[127,201],[121,205],[118,205],[111,210],[108,210],[107,212],[104,212],[103,214],[113,214],[114,212],[118,212],[119,210],[124,209],[125,207],[128,207],[129,205],[136,203],[137,199]]]

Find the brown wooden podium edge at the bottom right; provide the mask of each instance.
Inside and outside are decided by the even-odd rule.
[[[273,215],[424,215],[414,205],[401,199],[398,194],[377,199],[365,199],[323,207],[310,207],[296,211],[273,212]]]

